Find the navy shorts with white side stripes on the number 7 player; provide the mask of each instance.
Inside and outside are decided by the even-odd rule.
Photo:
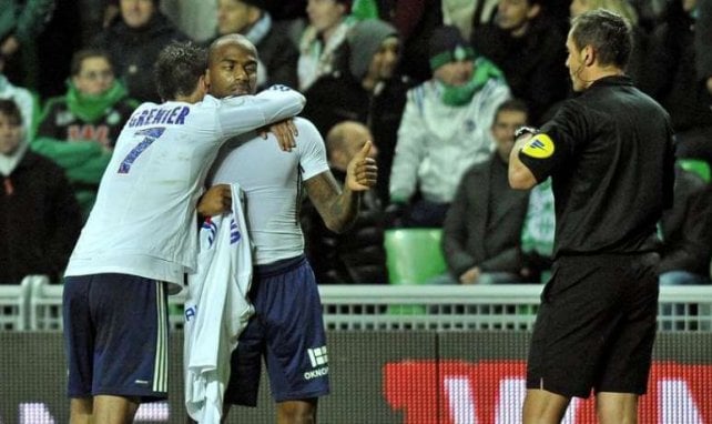
[[[70,397],[166,398],[165,283],[124,274],[68,276],[62,313]]]

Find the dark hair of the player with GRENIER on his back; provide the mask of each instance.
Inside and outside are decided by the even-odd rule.
[[[207,69],[205,49],[192,42],[173,41],[159,53],[154,67],[155,87],[163,100],[190,95]]]

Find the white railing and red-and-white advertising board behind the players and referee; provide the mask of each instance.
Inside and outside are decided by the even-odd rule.
[[[333,424],[519,424],[527,345],[541,285],[321,286]],[[184,423],[182,304],[170,296],[167,402],[142,405],[138,423]],[[67,422],[62,286],[41,276],[0,286],[0,423]],[[712,423],[712,287],[661,287],[660,333],[641,423]],[[274,422],[263,375],[260,407],[228,423]],[[573,401],[564,424],[594,423]]]

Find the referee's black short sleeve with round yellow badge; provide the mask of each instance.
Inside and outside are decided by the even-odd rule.
[[[567,102],[521,148],[519,160],[531,171],[537,182],[541,182],[576,155],[589,140],[590,132],[583,108],[577,102]]]

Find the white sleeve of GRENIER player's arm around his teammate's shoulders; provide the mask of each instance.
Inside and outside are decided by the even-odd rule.
[[[273,85],[257,95],[220,101],[217,121],[223,135],[234,137],[268,123],[292,118],[304,109],[305,99],[285,85]]]

